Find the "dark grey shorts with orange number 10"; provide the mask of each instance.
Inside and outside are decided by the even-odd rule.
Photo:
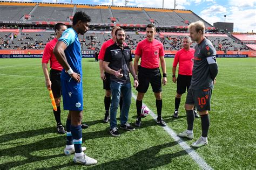
[[[186,104],[196,105],[198,111],[211,110],[212,90],[193,90],[188,89]]]

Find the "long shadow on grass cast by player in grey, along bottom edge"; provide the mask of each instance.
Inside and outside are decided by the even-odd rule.
[[[164,166],[166,164],[170,164],[170,162],[172,162],[173,158],[181,157],[190,152],[190,150],[188,150],[188,151],[182,150],[182,151],[179,151],[176,153],[158,155],[160,150],[167,148],[167,147],[173,147],[174,145],[177,145],[177,144],[178,143],[176,141],[172,141],[170,143],[166,143],[163,145],[152,146],[150,148],[147,148],[146,150],[139,151],[136,154],[131,155],[130,157],[127,157],[127,158],[113,160],[113,161],[105,162],[103,164],[100,164],[100,162],[98,162],[97,165],[93,165],[93,166],[80,165],[80,167],[77,167],[77,168],[81,168],[83,166],[86,169],[150,169],[150,168],[157,168],[157,167]],[[75,163],[53,166],[50,168],[51,169],[59,169],[59,168],[69,167],[70,165],[75,165]]]

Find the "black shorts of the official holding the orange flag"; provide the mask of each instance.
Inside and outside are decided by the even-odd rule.
[[[50,80],[51,80],[51,90],[53,97],[59,98],[62,96],[62,85],[60,83],[60,74],[62,71],[51,69],[50,70]]]

